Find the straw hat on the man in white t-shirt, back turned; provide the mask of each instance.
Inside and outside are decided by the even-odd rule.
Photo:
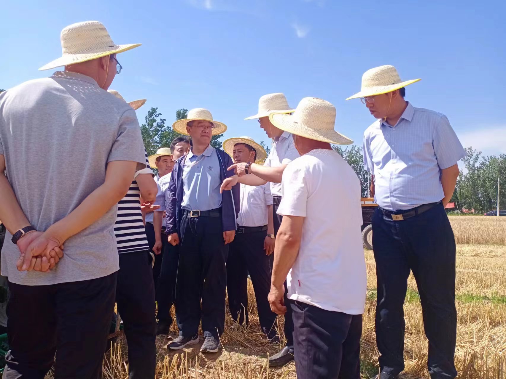
[[[292,115],[271,113],[274,126],[302,137],[337,145],[350,145],[353,140],[334,130],[335,107],[317,98],[301,100]]]

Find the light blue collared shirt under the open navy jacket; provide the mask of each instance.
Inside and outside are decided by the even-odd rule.
[[[190,150],[184,164],[181,207],[189,211],[220,208],[220,162],[216,149],[209,145],[198,157]]]

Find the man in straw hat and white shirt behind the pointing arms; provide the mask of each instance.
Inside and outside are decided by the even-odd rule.
[[[250,137],[229,138],[223,150],[234,163],[262,162],[266,152]],[[274,252],[274,222],[269,183],[240,184],[241,208],[237,230],[227,258],[228,308],[234,321],[242,325],[248,317],[248,273],[257,300],[258,317],[263,333],[272,342],[279,342],[275,327],[276,314],[271,311],[267,295],[271,283],[269,257]]]

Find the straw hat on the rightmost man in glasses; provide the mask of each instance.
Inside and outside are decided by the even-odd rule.
[[[413,84],[421,79],[402,81],[394,66],[379,66],[367,70],[362,75],[362,88],[346,100],[376,96]]]

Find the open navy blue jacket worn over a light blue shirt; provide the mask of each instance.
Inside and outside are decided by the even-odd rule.
[[[225,178],[234,175],[234,171],[227,171],[227,168],[234,164],[232,158],[221,149],[216,149],[218,160],[220,161],[220,180],[223,182]],[[181,202],[183,201],[183,167],[186,154],[179,158],[174,165],[171,174],[171,181],[165,192],[165,221],[166,233],[172,234],[178,232],[180,238],[182,236],[181,219],[183,217],[183,209]],[[223,191],[222,194],[222,214],[223,214],[223,231],[235,230],[237,228],[237,216],[240,208],[240,188],[234,185],[232,191]]]

